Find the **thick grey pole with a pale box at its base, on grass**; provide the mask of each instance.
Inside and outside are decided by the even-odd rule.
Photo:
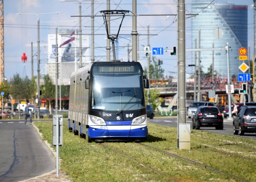
[[[185,26],[185,0],[177,0],[177,32],[178,32],[178,142],[177,146],[179,149],[190,150],[190,137],[183,137],[185,139],[180,141],[180,136],[183,132],[179,132],[179,128],[182,127],[180,124],[187,124],[187,109],[186,109],[186,26]],[[190,129],[190,126],[189,126]],[[189,130],[190,131],[190,130]]]

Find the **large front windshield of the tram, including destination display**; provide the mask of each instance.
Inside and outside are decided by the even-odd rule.
[[[139,65],[95,65],[92,68],[91,109],[132,111],[145,108]]]

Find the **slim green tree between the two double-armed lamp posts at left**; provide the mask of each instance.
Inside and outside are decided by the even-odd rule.
[[[43,77],[44,84],[42,85],[42,98],[49,99],[49,111],[52,114],[51,100],[55,96],[55,85],[52,83],[52,78],[49,75]]]

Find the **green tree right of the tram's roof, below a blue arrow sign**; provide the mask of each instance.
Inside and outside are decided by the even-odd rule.
[[[144,69],[145,74],[147,73],[147,68]],[[155,56],[152,56],[152,60],[150,60],[150,65],[149,65],[149,77],[150,79],[156,80],[156,82],[164,77],[164,69],[161,68],[160,65],[158,65],[158,61],[156,60]]]

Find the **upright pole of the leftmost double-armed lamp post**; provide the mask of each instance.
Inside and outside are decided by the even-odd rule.
[[[39,17],[37,19],[37,119],[40,119],[40,37],[39,37]]]

